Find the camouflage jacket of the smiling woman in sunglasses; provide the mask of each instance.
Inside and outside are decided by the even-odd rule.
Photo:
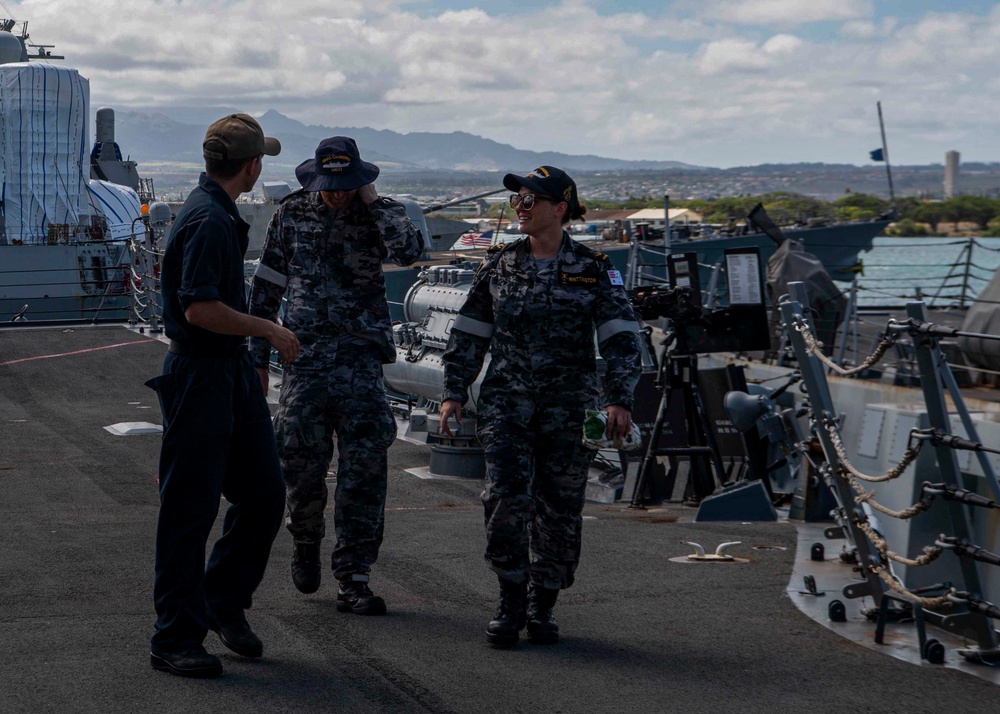
[[[607,363],[603,394],[594,330]],[[487,349],[480,398],[503,390],[588,407],[632,408],[641,370],[639,324],[608,257],[563,234],[536,270],[528,239],[491,249],[473,279],[444,355],[444,399],[468,399]],[[600,396],[600,403],[598,397]]]

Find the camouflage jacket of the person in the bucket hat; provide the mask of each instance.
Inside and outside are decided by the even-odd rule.
[[[365,206],[355,198],[328,208],[319,192],[296,191],[271,218],[260,265],[250,287],[250,314],[275,320],[285,296],[282,324],[302,345],[296,369],[327,369],[337,345],[371,342],[383,362],[396,360],[382,261],[411,265],[423,250],[420,231],[402,204],[378,198]],[[271,347],[250,340],[258,366]]]

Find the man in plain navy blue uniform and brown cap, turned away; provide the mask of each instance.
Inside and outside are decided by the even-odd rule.
[[[264,155],[280,150],[245,114],[212,124],[203,144],[205,173],[164,252],[163,323],[170,346],[163,373],[147,383],[163,410],[150,662],[185,677],[222,674],[219,658],[202,645],[209,629],[238,654],[263,654],[245,610],[281,526],[285,485],[246,337],[265,338],[286,362],[298,356],[299,343],[284,327],[247,314],[249,225],[234,200],[253,188]],[[206,566],[220,496],[229,508]]]

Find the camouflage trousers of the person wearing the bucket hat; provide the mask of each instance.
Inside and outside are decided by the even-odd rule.
[[[386,451],[396,437],[378,349],[341,346],[329,370],[286,371],[275,424],[287,526],[298,543],[326,534],[326,476],[336,434],[333,572],[338,580],[366,575],[382,544]]]

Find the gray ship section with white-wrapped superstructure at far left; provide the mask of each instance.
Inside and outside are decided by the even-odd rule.
[[[0,320],[123,319],[125,241],[151,184],[122,158],[111,109],[88,152],[90,83],[48,46],[29,52],[16,25],[0,21]]]

